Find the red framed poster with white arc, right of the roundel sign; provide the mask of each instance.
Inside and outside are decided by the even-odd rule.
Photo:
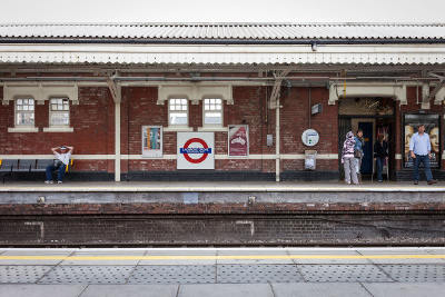
[[[249,126],[229,125],[228,127],[229,157],[249,156]]]

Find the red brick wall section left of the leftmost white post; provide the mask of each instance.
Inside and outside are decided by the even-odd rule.
[[[108,88],[79,88],[79,105],[70,105],[73,132],[43,132],[49,126],[49,101],[36,106],[39,132],[8,132],[14,127],[13,109],[12,101],[0,105],[0,155],[48,155],[51,147],[60,145],[75,146],[77,155],[113,154],[115,107]],[[112,162],[76,160],[76,170],[106,171],[112,169]]]

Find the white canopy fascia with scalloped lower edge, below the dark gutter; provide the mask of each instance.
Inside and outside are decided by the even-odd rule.
[[[441,65],[443,44],[157,46],[157,44],[0,44],[0,62],[58,63],[360,63]]]

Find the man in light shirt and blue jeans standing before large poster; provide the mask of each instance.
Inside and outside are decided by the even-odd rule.
[[[413,179],[414,185],[418,185],[418,167],[421,162],[424,164],[425,175],[428,185],[436,184],[437,180],[433,179],[433,175],[431,172],[429,159],[431,155],[431,141],[429,136],[425,133],[425,125],[419,125],[417,128],[417,132],[413,135],[409,141],[409,154],[413,158]]]

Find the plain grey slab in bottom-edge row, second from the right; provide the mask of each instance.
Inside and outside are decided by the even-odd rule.
[[[349,284],[271,284],[275,297],[370,297],[358,283]]]

